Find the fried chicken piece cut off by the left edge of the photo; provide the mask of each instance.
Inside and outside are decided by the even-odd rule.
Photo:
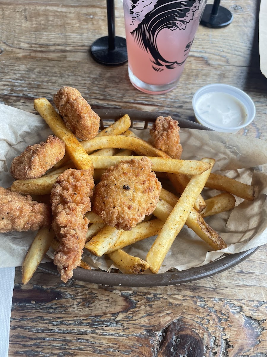
[[[51,224],[51,208],[32,201],[30,195],[22,196],[0,187],[0,232],[37,231]]]

